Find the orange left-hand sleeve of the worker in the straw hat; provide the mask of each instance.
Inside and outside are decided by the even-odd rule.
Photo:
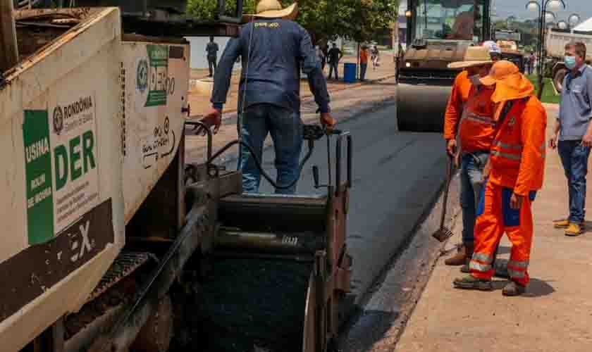
[[[457,125],[460,115],[464,108],[464,103],[469,99],[469,92],[473,84],[469,80],[469,73],[462,71],[455,78],[455,84],[452,85],[452,92],[448,99],[446,112],[444,114],[444,139],[453,139],[456,137]]]

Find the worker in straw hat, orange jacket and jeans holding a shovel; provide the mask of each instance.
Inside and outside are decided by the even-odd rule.
[[[464,61],[448,65],[449,68],[464,69],[452,87],[444,121],[448,154],[452,158],[458,155],[461,167],[460,205],[463,229],[462,246],[455,256],[445,260],[445,264],[464,265],[464,272],[469,272],[468,263],[473,255],[473,228],[478,196],[483,184],[482,171],[493,140],[493,89],[480,84],[479,77],[485,77],[489,73],[498,51],[496,46],[469,46]],[[457,151],[457,139],[460,142],[460,151]]]

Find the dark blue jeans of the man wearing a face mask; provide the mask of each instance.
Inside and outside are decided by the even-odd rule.
[[[557,151],[567,177],[569,222],[580,224],[586,217],[586,175],[590,147],[581,146],[581,141],[559,141]]]

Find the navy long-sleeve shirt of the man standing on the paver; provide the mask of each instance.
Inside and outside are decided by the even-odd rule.
[[[281,19],[255,20],[243,26],[237,38],[230,39],[214,74],[211,94],[214,108],[222,109],[226,103],[233,65],[238,56],[242,58],[238,111],[242,108],[246,85],[245,108],[256,103],[271,103],[300,113],[301,68],[307,74],[321,113],[330,111],[321,63],[309,34],[297,23]]]

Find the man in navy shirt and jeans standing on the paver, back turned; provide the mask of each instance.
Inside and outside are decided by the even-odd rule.
[[[242,138],[261,160],[267,134],[276,151],[276,183],[287,186],[298,177],[302,150],[300,120],[300,68],[319,106],[321,123],[335,125],[329,110],[329,94],[321,63],[316,58],[309,34],[293,22],[296,4],[282,8],[277,0],[261,0],[251,23],[243,26],[238,38],[230,39],[218,64],[211,95],[212,110],[202,119],[221,125],[223,104],[230,87],[233,64],[242,56],[238,111]],[[244,108],[244,109],[243,109]],[[257,192],[261,173],[248,149],[241,146],[240,168],[245,192]],[[278,188],[278,194],[293,194],[296,186]]]

